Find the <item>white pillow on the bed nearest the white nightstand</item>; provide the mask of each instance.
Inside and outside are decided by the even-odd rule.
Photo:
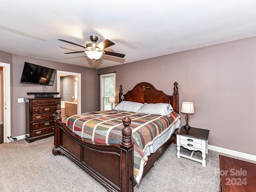
[[[164,115],[170,117],[170,113],[173,108],[168,103],[144,103],[144,105],[138,110],[138,113],[146,113],[152,115]]]

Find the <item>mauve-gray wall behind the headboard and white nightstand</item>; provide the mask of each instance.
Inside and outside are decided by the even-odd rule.
[[[149,82],[172,94],[178,82],[180,106],[194,102],[190,126],[210,130],[210,145],[256,155],[256,37],[98,70],[113,71],[116,99],[120,84],[124,93]]]

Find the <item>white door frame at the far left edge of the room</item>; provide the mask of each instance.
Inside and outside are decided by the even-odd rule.
[[[4,143],[10,142],[7,136],[11,136],[11,70],[10,64],[0,62],[3,67],[3,117],[4,117]]]

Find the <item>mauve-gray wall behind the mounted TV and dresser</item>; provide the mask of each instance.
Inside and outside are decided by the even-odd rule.
[[[18,98],[28,98],[27,92],[43,92],[41,85],[21,84],[20,77],[24,61],[54,68],[56,70],[81,73],[81,112],[98,110],[98,70],[81,66],[31,58],[0,51],[0,62],[11,66],[11,134],[13,137],[26,134],[25,103],[18,103]],[[56,92],[56,77],[54,85],[48,87],[48,92]]]

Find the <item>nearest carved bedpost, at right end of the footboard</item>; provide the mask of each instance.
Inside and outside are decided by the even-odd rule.
[[[133,192],[133,143],[131,119],[123,119],[122,142],[120,143],[120,191]]]

